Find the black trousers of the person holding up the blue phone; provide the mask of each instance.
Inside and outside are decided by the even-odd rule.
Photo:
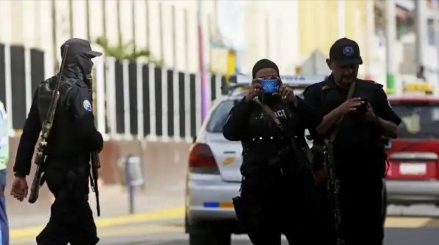
[[[242,182],[241,225],[255,245],[316,244],[316,206],[311,173],[247,177]]]

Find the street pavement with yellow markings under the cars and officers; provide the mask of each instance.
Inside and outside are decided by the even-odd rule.
[[[439,244],[439,218],[434,207],[391,207],[386,219],[384,245],[437,245]],[[178,212],[179,213],[179,212]],[[177,213],[177,214],[178,214]],[[417,217],[402,217],[411,214]],[[428,214],[428,215],[425,215]],[[184,233],[183,216],[163,219],[132,219],[129,222],[102,224],[98,228],[100,245],[188,245]],[[434,217],[436,216],[436,217]],[[127,220],[125,220],[127,221]],[[29,231],[31,232],[31,231]],[[36,231],[32,231],[36,233]],[[246,235],[234,235],[232,245],[251,244]],[[11,244],[34,245],[34,234],[14,237]],[[283,241],[282,244],[287,244]]]

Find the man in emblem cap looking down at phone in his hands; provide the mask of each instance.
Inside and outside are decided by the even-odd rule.
[[[335,41],[326,62],[331,75],[304,91],[305,101],[324,115],[322,124],[310,132],[315,145],[316,188],[325,193],[327,184],[336,183],[329,185],[335,187],[329,190],[334,194],[339,187],[339,194],[332,197],[340,205],[329,205],[326,196],[321,199],[322,244],[381,245],[385,208],[382,178],[386,173],[381,138],[396,138],[401,119],[389,106],[382,85],[357,78],[363,61],[355,41]],[[328,178],[331,166],[335,173]],[[334,225],[334,214],[341,214],[337,219],[340,226]],[[327,243],[328,239],[332,243]]]

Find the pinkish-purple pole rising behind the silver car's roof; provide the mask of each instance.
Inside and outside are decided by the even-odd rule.
[[[204,39],[203,39],[203,1],[197,1],[198,6],[198,59],[200,66],[201,82],[201,121],[204,121],[207,114],[207,91],[206,91],[206,68],[204,64]]]

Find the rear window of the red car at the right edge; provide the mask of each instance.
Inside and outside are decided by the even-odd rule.
[[[392,103],[402,119],[399,138],[439,138],[439,103]]]

